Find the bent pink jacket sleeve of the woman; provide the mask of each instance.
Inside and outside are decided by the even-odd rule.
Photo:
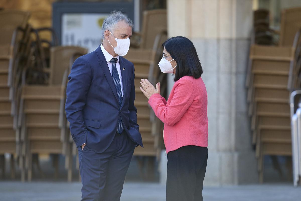
[[[180,82],[175,86],[172,100],[168,106],[164,103],[160,94],[153,94],[149,104],[156,116],[168,126],[172,126],[184,115],[193,102],[193,87],[191,82]]]

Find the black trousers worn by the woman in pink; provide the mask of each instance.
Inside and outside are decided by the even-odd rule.
[[[167,154],[166,201],[202,201],[207,147],[183,146]]]

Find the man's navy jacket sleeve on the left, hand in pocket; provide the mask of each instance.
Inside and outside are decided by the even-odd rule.
[[[70,130],[77,147],[86,143],[87,129],[82,110],[86,103],[86,96],[90,88],[92,73],[88,61],[77,58],[68,77],[66,114],[70,122]]]

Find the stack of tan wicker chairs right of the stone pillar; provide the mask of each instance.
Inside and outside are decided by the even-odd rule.
[[[260,182],[265,155],[292,155],[289,97],[300,28],[301,8],[283,10],[278,46],[258,45],[252,40],[250,47],[247,101]]]

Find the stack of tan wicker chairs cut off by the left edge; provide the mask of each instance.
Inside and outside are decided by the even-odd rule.
[[[0,11],[0,164],[5,173],[4,153],[11,153],[11,177],[14,178],[14,155],[19,156],[19,136],[16,135],[12,77],[22,47],[29,13],[24,11]]]

